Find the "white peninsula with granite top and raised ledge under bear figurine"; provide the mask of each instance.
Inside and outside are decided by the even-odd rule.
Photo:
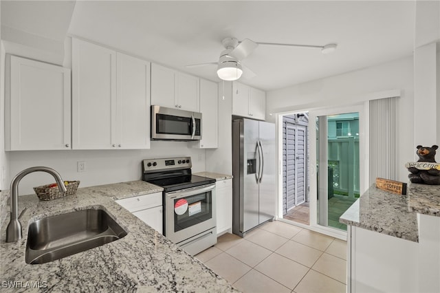
[[[371,186],[347,224],[347,292],[440,292],[440,186]]]

